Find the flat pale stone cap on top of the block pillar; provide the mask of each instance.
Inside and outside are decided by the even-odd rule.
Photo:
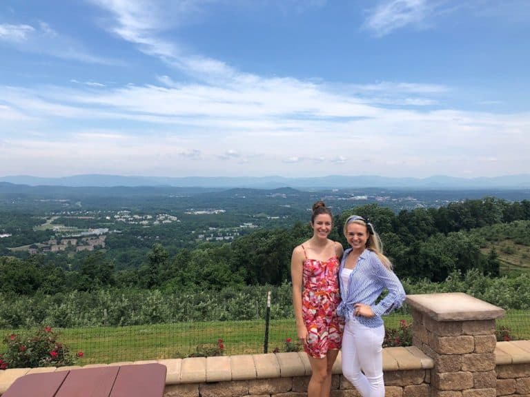
[[[407,295],[406,303],[437,321],[493,320],[504,309],[463,292]]]

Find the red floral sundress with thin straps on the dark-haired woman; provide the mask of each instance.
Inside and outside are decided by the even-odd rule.
[[[324,358],[328,350],[340,349],[344,319],[337,316],[340,303],[338,272],[339,258],[332,256],[327,261],[307,257],[304,250],[302,280],[302,318],[308,338],[304,351],[315,358]]]

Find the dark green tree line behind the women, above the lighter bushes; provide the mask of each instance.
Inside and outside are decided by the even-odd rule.
[[[402,210],[368,204],[346,210],[334,218],[331,238],[347,247],[342,224],[351,214],[370,218],[381,235],[384,251],[401,278],[444,281],[449,274],[476,269],[487,276],[500,275],[495,251],[482,254],[487,234],[469,230],[491,225],[530,221],[530,201],[510,203],[486,197],[450,203],[439,208]],[[518,224],[514,238],[530,235],[530,222]],[[116,269],[102,252],[87,254],[75,269],[35,255],[23,260],[0,257],[0,292],[32,296],[93,292],[104,288],[220,291],[247,285],[279,286],[290,279],[293,247],[311,236],[308,223],[257,230],[232,243],[202,243],[170,255],[155,243],[141,266]],[[528,237],[526,237],[528,238]],[[527,242],[528,243],[528,242]]]

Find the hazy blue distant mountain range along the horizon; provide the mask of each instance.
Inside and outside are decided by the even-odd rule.
[[[157,177],[157,176],[119,176],[104,174],[83,174],[61,178],[41,178],[38,176],[18,175],[0,176],[0,182],[17,185],[48,185],[70,187],[136,187],[136,186],[172,186],[206,187],[224,189],[247,187],[254,189],[276,189],[293,187],[297,189],[338,189],[359,187],[413,188],[413,189],[529,189],[530,174],[495,176],[493,178],[455,178],[453,176],[429,176],[429,178],[389,178],[377,175],[330,175],[310,178],[285,178],[283,176],[263,177]]]

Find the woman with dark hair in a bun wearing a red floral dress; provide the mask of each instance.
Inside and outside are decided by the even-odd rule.
[[[291,258],[293,308],[297,335],[313,370],[307,396],[327,397],[331,389],[331,367],[344,328],[342,318],[336,314],[340,303],[337,275],[342,245],[328,239],[333,216],[322,201],[313,204],[311,227],[313,237],[295,247]]]

